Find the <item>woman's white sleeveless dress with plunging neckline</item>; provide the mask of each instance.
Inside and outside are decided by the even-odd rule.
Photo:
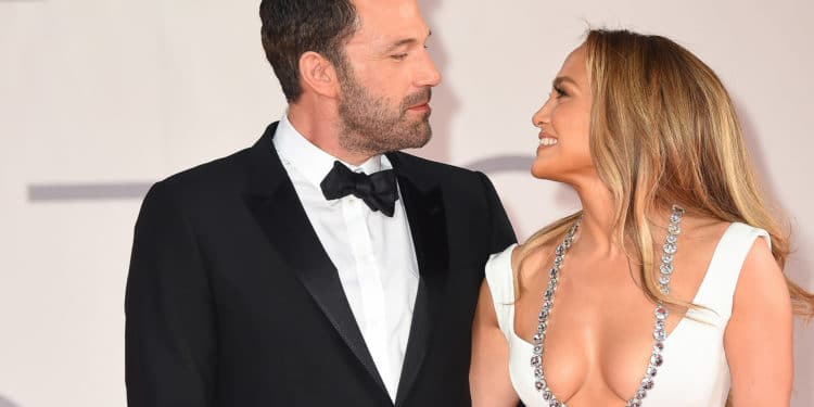
[[[771,244],[763,229],[732,224],[717,243],[692,303],[708,309],[690,310],[699,322],[682,319],[664,341],[664,365],[643,406],[723,407],[729,393],[729,365],[724,353],[724,330],[732,315],[733,295],[747,253],[758,237]],[[492,255],[486,281],[497,321],[509,344],[509,374],[514,391],[527,407],[547,406],[534,387],[530,365],[532,345],[514,333],[514,283],[511,252],[514,244]],[[679,249],[682,250],[682,249]],[[676,272],[681,272],[676,270]],[[645,352],[646,349],[643,349]],[[641,367],[641,373],[645,366]],[[624,402],[620,402],[624,405]]]

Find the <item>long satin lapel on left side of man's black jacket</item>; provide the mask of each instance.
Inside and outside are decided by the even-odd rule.
[[[336,268],[319,242],[271,143],[276,124],[252,148],[246,204],[266,237],[382,391],[384,383],[345,297]],[[315,372],[318,373],[318,372]]]

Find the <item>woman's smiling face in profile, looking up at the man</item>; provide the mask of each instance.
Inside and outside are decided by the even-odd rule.
[[[593,100],[585,46],[581,46],[568,55],[548,100],[532,116],[532,124],[540,130],[532,175],[568,183],[596,176],[588,143]]]

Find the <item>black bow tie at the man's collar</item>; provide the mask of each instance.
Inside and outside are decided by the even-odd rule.
[[[338,200],[353,194],[365,201],[371,211],[381,211],[386,216],[393,216],[398,200],[396,175],[392,169],[371,175],[359,174],[336,161],[319,187],[322,188],[322,194],[328,200]]]

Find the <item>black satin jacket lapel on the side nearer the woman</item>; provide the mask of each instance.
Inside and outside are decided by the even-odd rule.
[[[434,316],[438,314],[444,297],[449,252],[441,187],[429,177],[421,177],[403,166],[398,153],[387,157],[398,178],[421,276],[396,394],[396,406],[400,406],[416,382],[431,341]]]

